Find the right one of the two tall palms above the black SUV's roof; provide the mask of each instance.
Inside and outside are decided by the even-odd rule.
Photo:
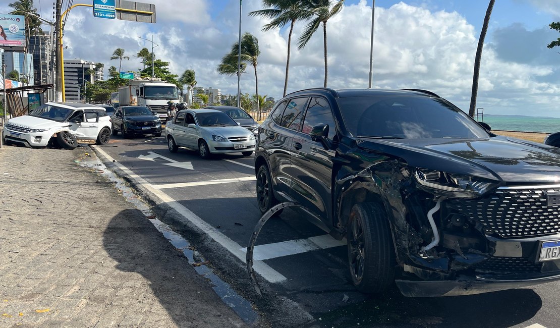
[[[332,18],[334,15],[342,10],[342,5],[344,4],[344,0],[303,0],[303,7],[307,10],[310,14],[315,16],[307,26],[305,26],[305,31],[301,34],[300,39],[298,39],[298,49],[303,49],[305,45],[311,40],[311,36],[315,33],[315,31],[319,28],[319,25],[323,23],[323,43],[324,43],[324,51],[325,51],[325,83],[324,87],[326,87],[326,81],[329,73],[328,63],[326,60],[326,22],[329,18]]]

